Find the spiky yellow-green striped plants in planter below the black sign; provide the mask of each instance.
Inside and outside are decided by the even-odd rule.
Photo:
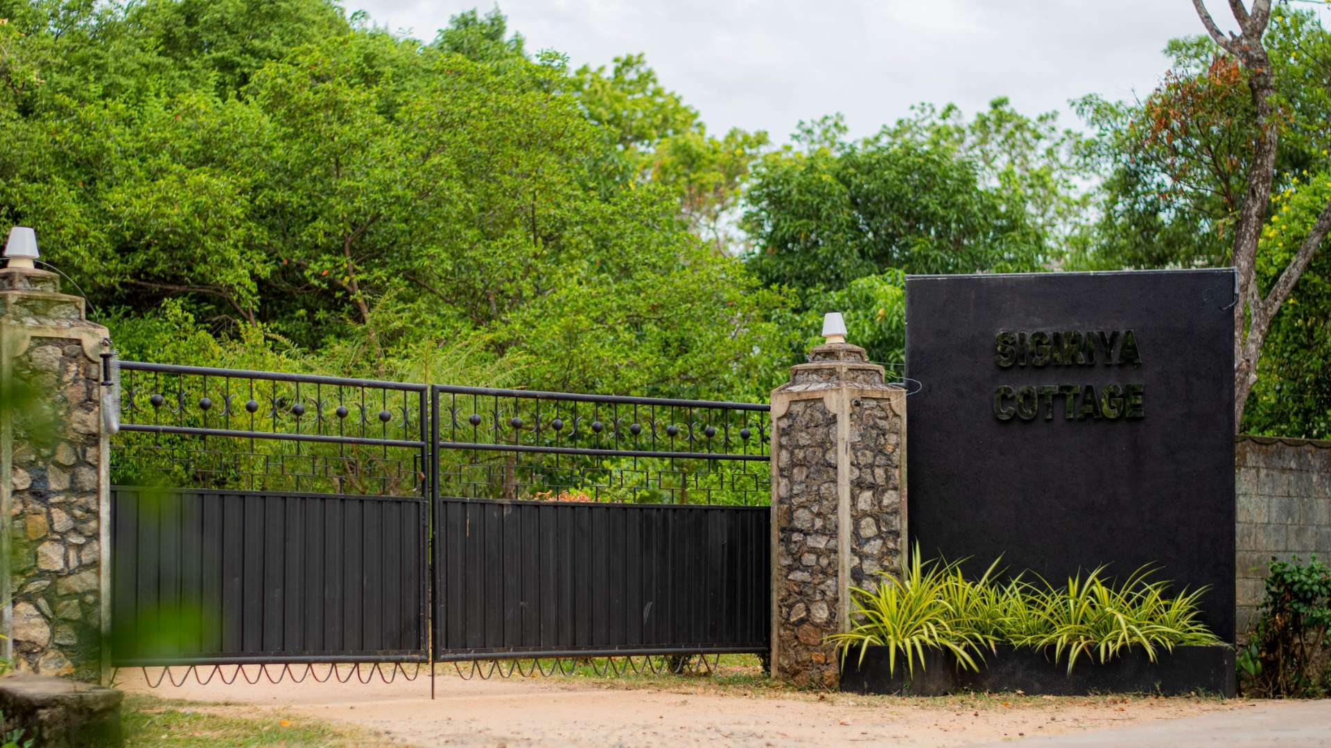
[[[869,647],[888,647],[890,672],[898,655],[913,672],[917,661],[924,667],[925,650],[942,650],[977,671],[985,651],[1010,644],[1047,651],[1055,663],[1067,657],[1071,672],[1083,656],[1105,663],[1141,648],[1155,661],[1161,650],[1219,643],[1198,620],[1205,588],[1171,595],[1149,568],[1119,582],[1097,568],[1054,587],[1022,575],[997,582],[998,562],[966,579],[958,563],[924,562],[918,551],[900,579],[880,572],[874,590],[851,588],[851,631],[828,638],[843,659],[858,650],[862,661]]]

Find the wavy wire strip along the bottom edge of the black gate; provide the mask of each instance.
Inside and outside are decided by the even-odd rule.
[[[612,677],[612,676],[626,676],[626,675],[711,675],[716,671],[720,664],[721,655],[624,655],[624,656],[606,656],[606,657],[532,657],[532,659],[491,659],[491,660],[466,660],[466,661],[453,661],[447,663],[453,665],[454,672],[462,680],[471,680],[479,677],[480,680],[490,680],[495,675],[500,679],[510,679],[514,675],[519,677],[536,677],[536,676],[572,676],[579,672],[579,668],[586,665],[591,668],[592,675],[596,677]],[[413,665],[411,673],[407,675],[407,664]],[[162,683],[169,683],[170,685],[180,688],[189,683],[190,675],[194,676],[194,681],[198,685],[208,685],[214,679],[225,685],[232,685],[237,680],[242,680],[250,685],[257,685],[261,680],[268,680],[273,685],[277,685],[285,680],[291,683],[305,683],[306,680],[313,680],[314,683],[350,683],[354,677],[362,684],[369,684],[375,676],[385,684],[394,683],[399,676],[406,681],[415,681],[421,676],[421,668],[431,668],[431,676],[437,672],[437,668],[443,663],[435,663],[434,665],[423,663],[327,663],[325,665],[318,665],[315,663],[258,663],[258,664],[205,664],[205,665],[162,665],[157,677],[153,679],[149,672],[149,667],[138,668],[144,675],[144,683],[149,688],[158,688]],[[343,675],[343,665],[346,673]],[[389,673],[385,675],[385,667],[389,665]],[[463,667],[466,665],[466,667]],[[507,667],[504,667],[507,665]],[[230,667],[230,676],[226,675],[226,667]],[[325,667],[323,676],[319,677],[318,668]],[[249,668],[249,669],[246,669]],[[257,668],[257,669],[256,669]],[[112,673],[110,683],[116,684],[116,677],[120,673],[116,668]],[[273,672],[277,672],[274,676]],[[201,673],[206,672],[206,677]],[[250,676],[250,672],[254,672]],[[178,673],[178,677],[177,677]],[[297,676],[299,673],[299,676]],[[434,697],[434,677],[430,679],[430,696]]]

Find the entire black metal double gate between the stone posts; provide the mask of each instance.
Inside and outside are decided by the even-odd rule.
[[[768,648],[765,405],[121,370],[117,667]]]

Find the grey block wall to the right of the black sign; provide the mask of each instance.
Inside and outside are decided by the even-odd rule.
[[[1331,442],[1240,435],[1234,462],[1243,638],[1256,622],[1271,556],[1331,562]]]

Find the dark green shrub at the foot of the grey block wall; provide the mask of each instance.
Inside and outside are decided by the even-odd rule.
[[[1239,651],[1243,691],[1251,696],[1324,696],[1331,689],[1327,628],[1331,568],[1312,556],[1300,564],[1271,559],[1260,618]]]

